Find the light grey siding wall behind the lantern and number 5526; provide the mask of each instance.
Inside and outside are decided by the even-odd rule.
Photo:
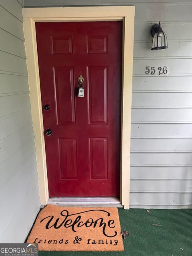
[[[131,208],[192,207],[191,0],[24,0],[25,7],[135,5]],[[151,51],[161,21],[168,49]],[[146,66],[168,74],[146,75]]]

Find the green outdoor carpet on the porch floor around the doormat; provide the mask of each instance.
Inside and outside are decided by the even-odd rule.
[[[124,252],[44,252],[40,256],[192,256],[192,209],[118,209]],[[152,224],[158,224],[154,226]],[[183,249],[183,250],[182,250]]]

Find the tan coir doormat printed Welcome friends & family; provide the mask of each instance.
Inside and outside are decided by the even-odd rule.
[[[43,208],[27,243],[42,251],[124,251],[117,208],[48,205]]]

